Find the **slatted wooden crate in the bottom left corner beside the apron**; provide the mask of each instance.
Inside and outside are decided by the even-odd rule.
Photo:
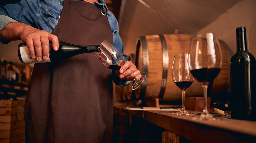
[[[25,142],[24,100],[0,100],[0,143]]]

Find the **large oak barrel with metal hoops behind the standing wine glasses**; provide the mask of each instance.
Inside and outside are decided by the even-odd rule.
[[[135,90],[137,99],[159,98],[162,101],[179,101],[182,99],[181,89],[172,80],[172,64],[174,55],[189,52],[192,36],[187,34],[163,34],[140,36],[138,38],[135,65],[142,75],[147,75],[147,78]],[[223,44],[223,41],[220,43],[223,63],[220,73],[213,82],[211,96],[227,91],[230,83],[228,54],[225,49],[227,46]],[[196,80],[185,91],[185,97],[202,95],[202,85]]]

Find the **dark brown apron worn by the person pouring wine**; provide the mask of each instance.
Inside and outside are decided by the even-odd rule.
[[[52,32],[76,45],[113,43],[106,15],[94,4],[65,0]],[[25,105],[26,141],[110,142],[113,133],[111,70],[94,53],[35,64]]]

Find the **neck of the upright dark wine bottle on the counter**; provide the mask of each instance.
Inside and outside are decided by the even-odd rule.
[[[237,52],[247,51],[246,34],[245,31],[236,32]]]

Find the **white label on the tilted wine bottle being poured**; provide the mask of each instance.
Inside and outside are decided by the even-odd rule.
[[[20,56],[24,64],[51,62],[50,58],[48,58],[47,60],[42,59],[41,61],[38,61],[36,58],[32,58],[29,54],[27,46],[20,47]]]

